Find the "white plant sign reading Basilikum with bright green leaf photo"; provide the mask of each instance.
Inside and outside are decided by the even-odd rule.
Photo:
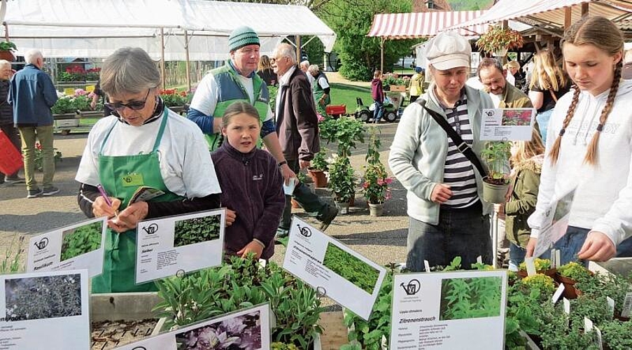
[[[107,218],[95,218],[29,239],[27,272],[87,269],[103,272]]]

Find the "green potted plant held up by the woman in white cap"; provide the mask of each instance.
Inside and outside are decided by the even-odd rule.
[[[488,203],[505,202],[510,183],[509,158],[511,144],[505,141],[490,141],[481,151],[489,174],[483,179],[483,200]]]

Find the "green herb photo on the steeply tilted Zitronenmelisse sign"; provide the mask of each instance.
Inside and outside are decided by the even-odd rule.
[[[328,242],[323,265],[347,281],[355,284],[358,288],[365,290],[365,292],[369,294],[373,294],[375,283],[377,283],[379,277],[379,271],[351,255],[351,253],[342,250],[339,246]]]

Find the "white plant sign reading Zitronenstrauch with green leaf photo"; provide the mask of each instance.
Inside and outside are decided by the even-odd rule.
[[[507,271],[395,274],[389,349],[503,349]]]

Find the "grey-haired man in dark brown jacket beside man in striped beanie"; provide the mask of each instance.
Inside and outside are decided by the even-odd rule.
[[[309,167],[314,154],[321,148],[318,139],[318,117],[311,96],[311,86],[307,76],[299,69],[294,48],[281,43],[272,54],[272,69],[279,76],[279,92],[276,94],[276,132],[288,165],[293,172]],[[337,209],[322,202],[307,186],[298,183],[293,193],[311,216],[321,221],[321,230],[338,214]],[[290,197],[286,197],[277,236],[287,235],[290,230],[292,207]]]

